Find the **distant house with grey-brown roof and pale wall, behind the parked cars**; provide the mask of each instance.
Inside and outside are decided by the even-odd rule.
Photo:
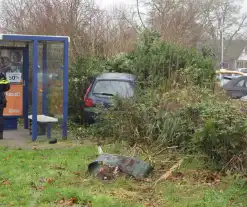
[[[198,49],[207,47],[212,49],[216,56],[216,67],[220,67],[221,44],[219,40],[205,41],[198,44]],[[224,41],[224,68],[235,70],[247,68],[247,41],[232,40]]]

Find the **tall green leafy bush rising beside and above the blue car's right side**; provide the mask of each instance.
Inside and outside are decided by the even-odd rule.
[[[211,85],[215,76],[210,52],[199,53],[195,49],[164,42],[158,34],[150,31],[140,34],[133,53],[113,57],[108,61],[107,68],[110,71],[135,74],[143,87],[157,87],[178,70],[186,69],[184,72],[192,75],[190,81],[203,86]]]

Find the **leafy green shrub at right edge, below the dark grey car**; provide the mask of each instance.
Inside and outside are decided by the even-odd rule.
[[[208,155],[216,165],[224,166],[234,156],[246,152],[246,115],[231,101],[204,101],[194,108],[200,122],[192,137],[193,147]]]

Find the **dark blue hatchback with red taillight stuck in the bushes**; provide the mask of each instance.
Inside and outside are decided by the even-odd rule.
[[[84,95],[84,122],[95,122],[97,104],[107,109],[116,95],[123,99],[133,97],[135,85],[136,77],[127,73],[104,73],[93,79]]]

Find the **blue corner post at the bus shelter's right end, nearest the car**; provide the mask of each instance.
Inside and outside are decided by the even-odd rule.
[[[63,55],[63,138],[68,137],[68,91],[69,91],[69,40],[64,41],[64,55]]]

